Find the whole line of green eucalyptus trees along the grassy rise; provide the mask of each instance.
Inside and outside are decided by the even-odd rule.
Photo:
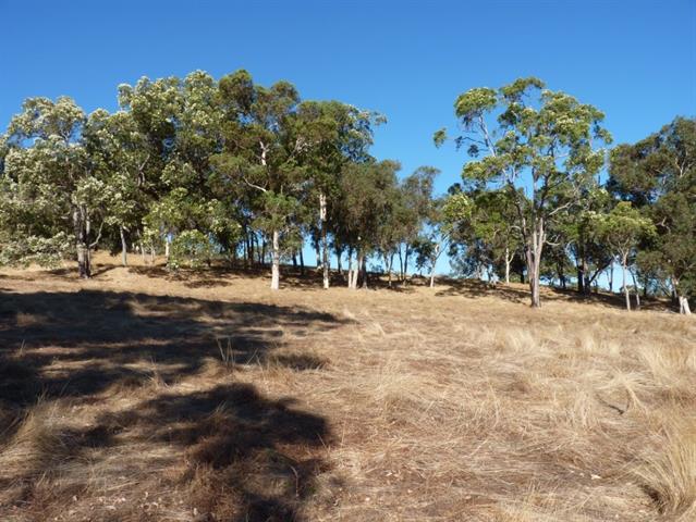
[[[462,182],[434,194],[438,171],[400,177],[369,153],[375,112],[302,100],[286,82],[245,71],[216,80],[142,78],[119,86],[120,110],[86,114],[72,99],[29,98],[0,137],[0,264],[77,261],[95,249],[171,270],[221,260],[304,272],[317,252],[347,286],[371,271],[403,284],[447,253],[456,273],[527,283],[538,307],[547,281],[588,294],[606,274],[626,307],[696,294],[696,120],[676,117],[610,149],[603,114],[537,78],[474,88],[454,103],[465,150]],[[621,268],[613,281],[614,265]]]

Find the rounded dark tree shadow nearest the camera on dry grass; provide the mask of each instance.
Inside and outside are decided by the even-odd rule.
[[[317,451],[331,443],[327,421],[248,384],[162,394],[103,415],[100,424],[129,432],[136,444],[146,438],[179,448],[186,462],[179,481],[193,483],[198,510],[213,520],[300,520],[315,478],[328,471]]]

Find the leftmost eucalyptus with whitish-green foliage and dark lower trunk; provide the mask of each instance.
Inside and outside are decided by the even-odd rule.
[[[8,208],[23,209],[10,243],[60,257],[72,235],[80,277],[91,275],[90,251],[101,237],[111,191],[84,146],[86,121],[70,98],[27,99],[10,122],[3,170],[3,224],[10,224]],[[23,257],[32,256],[29,250],[15,251]]]

